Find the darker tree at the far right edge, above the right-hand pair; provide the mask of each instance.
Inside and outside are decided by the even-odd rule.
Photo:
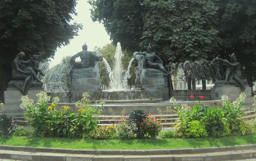
[[[220,6],[219,27],[223,40],[220,55],[229,58],[234,52],[252,87],[256,81],[256,1],[225,0]]]

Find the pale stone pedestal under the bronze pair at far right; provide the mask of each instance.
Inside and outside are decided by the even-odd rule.
[[[247,81],[242,80],[245,84],[246,97],[252,97],[252,89],[249,87]],[[236,99],[239,97],[241,89],[235,85],[224,85],[224,81],[216,81],[214,87],[211,90],[212,100],[221,99],[222,95],[227,95],[230,99]]]

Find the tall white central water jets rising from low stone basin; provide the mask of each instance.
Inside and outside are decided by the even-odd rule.
[[[134,60],[132,58],[129,62],[128,68],[125,71],[123,69],[123,52],[121,44],[118,42],[116,45],[116,51],[114,55],[114,68],[111,69],[110,65],[103,58],[104,65],[110,78],[110,89],[106,91],[97,91],[95,93],[95,100],[103,100],[108,102],[133,102],[135,100],[152,100],[152,97],[147,91],[144,90],[129,90],[127,85],[127,79],[130,77],[130,67]]]

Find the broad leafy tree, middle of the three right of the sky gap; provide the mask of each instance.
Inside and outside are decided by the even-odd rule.
[[[144,0],[142,48],[151,44],[163,60],[212,58],[220,49],[218,6],[213,0]]]

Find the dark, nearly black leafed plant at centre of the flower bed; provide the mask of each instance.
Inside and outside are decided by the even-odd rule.
[[[127,122],[129,122],[129,124],[136,124],[136,132],[138,138],[144,137],[145,132],[141,123],[143,123],[143,119],[145,119],[146,116],[148,115],[144,113],[144,109],[132,109],[128,114]]]

